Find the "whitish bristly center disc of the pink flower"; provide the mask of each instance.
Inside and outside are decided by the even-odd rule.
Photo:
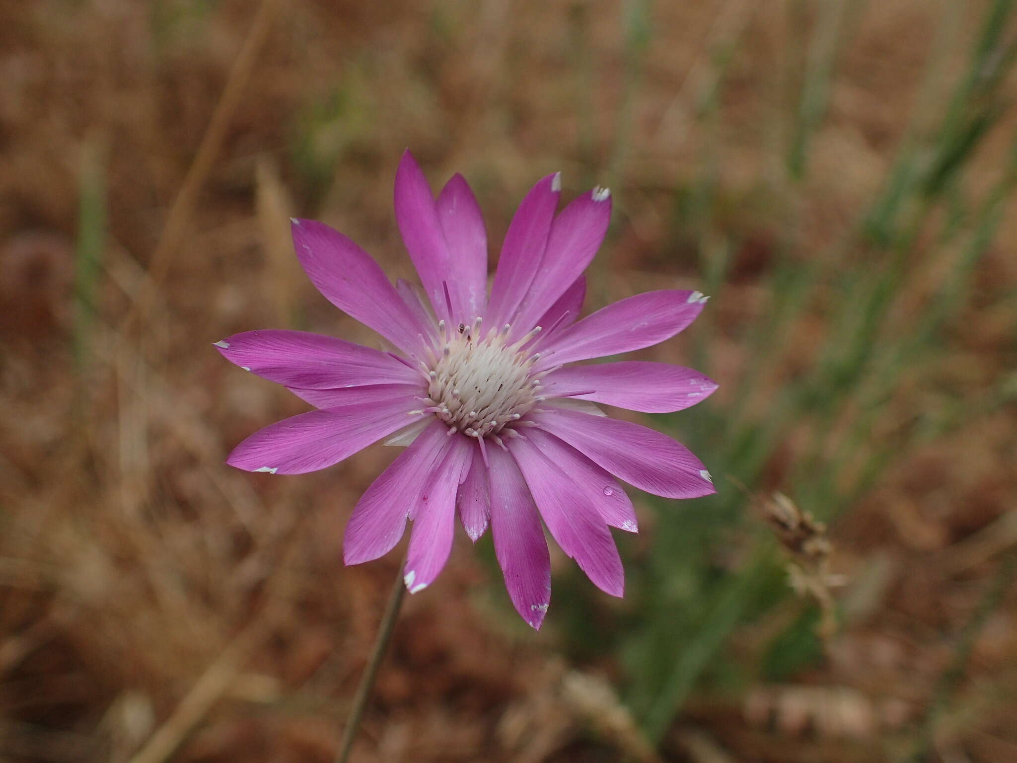
[[[536,330],[539,331],[539,330]],[[536,331],[507,344],[507,327],[481,333],[481,320],[454,329],[431,364],[427,395],[435,416],[471,437],[497,435],[520,419],[540,397],[540,357],[523,350]]]

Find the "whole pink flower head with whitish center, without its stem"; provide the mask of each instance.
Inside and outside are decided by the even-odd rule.
[[[216,343],[228,360],[317,408],[255,432],[228,463],[301,474],[383,437],[408,446],[357,504],[346,564],[390,551],[412,519],[405,575],[416,593],[444,567],[458,511],[474,541],[490,523],[508,595],[533,628],[551,591],[541,518],[595,585],[620,596],[624,573],[609,528],[637,527],[616,480],[672,498],[714,492],[686,448],[594,405],[678,411],[709,396],[713,382],[665,363],[574,365],[674,336],[707,298],[654,291],[577,320],[583,272],[604,238],[611,200],[594,188],[555,215],[559,194],[555,174],[523,199],[488,297],[487,236],[470,187],[456,175],[435,199],[407,152],[396,174],[396,219],[423,293],[404,281],[393,287],[328,226],[293,221],[294,247],[314,286],[392,349],[293,331]]]

